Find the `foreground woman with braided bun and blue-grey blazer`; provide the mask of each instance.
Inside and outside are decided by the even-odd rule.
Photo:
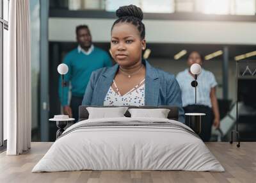
[[[82,104],[87,106],[177,106],[184,123],[181,92],[175,76],[142,60],[146,49],[141,9],[122,6],[111,28],[113,67],[92,73]]]

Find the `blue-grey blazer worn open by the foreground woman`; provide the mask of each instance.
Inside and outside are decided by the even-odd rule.
[[[184,123],[181,91],[175,76],[152,67],[145,60],[143,64],[146,67],[145,106],[177,106],[179,122]],[[92,72],[84,93],[83,106],[103,106],[117,70],[118,64]]]

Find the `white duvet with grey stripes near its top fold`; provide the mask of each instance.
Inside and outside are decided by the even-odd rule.
[[[86,127],[93,122],[168,122],[177,126]],[[77,129],[76,129],[77,128]],[[163,118],[84,120],[57,139],[32,172],[72,170],[225,171],[186,125]]]

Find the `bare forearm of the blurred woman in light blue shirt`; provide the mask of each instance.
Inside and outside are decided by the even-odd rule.
[[[212,111],[214,114],[213,125],[214,127],[218,128],[220,127],[220,111],[219,111],[218,101],[216,97],[216,87],[211,88],[210,98],[211,98],[211,104],[212,104]]]

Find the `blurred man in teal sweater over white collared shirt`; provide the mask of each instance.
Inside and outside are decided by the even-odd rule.
[[[83,95],[94,70],[111,67],[112,61],[106,51],[94,47],[90,29],[86,25],[77,26],[76,39],[78,47],[65,56],[63,63],[68,66],[68,73],[64,76],[67,87],[64,87],[63,102],[61,92],[61,78],[59,82],[59,96],[63,113],[78,120],[78,108],[82,104]],[[69,83],[72,86],[72,97],[68,105]]]

